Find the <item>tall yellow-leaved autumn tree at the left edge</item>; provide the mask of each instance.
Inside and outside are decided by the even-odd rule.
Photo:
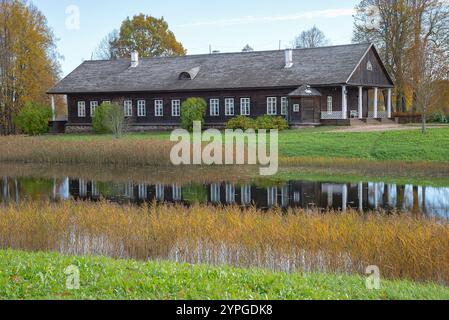
[[[21,0],[0,0],[0,126],[15,133],[27,103],[49,105],[46,91],[59,76],[55,38],[45,16]]]

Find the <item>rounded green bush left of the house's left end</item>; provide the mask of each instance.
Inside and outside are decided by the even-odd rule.
[[[49,106],[27,103],[14,118],[14,123],[25,134],[37,136],[48,132],[51,117]]]

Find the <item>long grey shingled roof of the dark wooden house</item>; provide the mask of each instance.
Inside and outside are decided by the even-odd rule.
[[[344,84],[371,44],[294,49],[293,65],[285,68],[284,51],[258,51],[85,61],[61,80],[51,94],[95,92],[162,92],[236,88],[295,87]],[[193,80],[180,79],[191,70]]]

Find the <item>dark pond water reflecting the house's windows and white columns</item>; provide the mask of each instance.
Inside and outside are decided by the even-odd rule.
[[[208,203],[214,205],[255,205],[261,209],[323,208],[360,211],[411,211],[429,216],[449,217],[449,187],[425,187],[376,183],[325,183],[289,181],[283,184],[236,185],[149,185],[144,183],[108,183],[85,179],[0,179],[0,201],[7,203],[28,200],[98,201],[118,203],[167,202]]]

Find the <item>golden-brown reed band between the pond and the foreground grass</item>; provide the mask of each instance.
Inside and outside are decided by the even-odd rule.
[[[409,215],[107,202],[0,208],[0,248],[364,274],[449,285],[449,224]]]

